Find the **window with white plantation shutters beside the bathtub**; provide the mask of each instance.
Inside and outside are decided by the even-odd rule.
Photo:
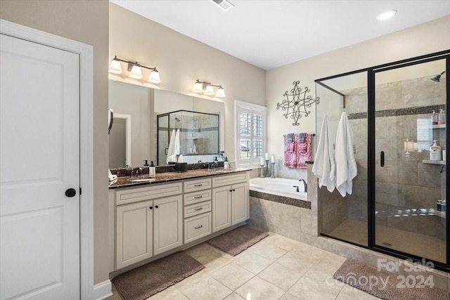
[[[266,149],[266,107],[236,100],[236,167],[259,167]]]

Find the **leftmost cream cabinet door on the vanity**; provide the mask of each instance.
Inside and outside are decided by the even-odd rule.
[[[153,201],[116,207],[116,269],[153,255]]]

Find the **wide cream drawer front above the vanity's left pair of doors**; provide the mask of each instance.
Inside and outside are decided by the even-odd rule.
[[[181,182],[155,184],[146,186],[145,188],[127,188],[117,190],[115,204],[121,205],[143,200],[152,200],[160,197],[179,195],[181,193],[183,193]]]

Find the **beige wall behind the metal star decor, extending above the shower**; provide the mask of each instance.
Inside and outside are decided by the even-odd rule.
[[[300,80],[302,87],[309,86],[309,95],[314,97],[315,79],[444,51],[450,49],[449,36],[450,15],[267,71],[268,152],[277,159],[283,159],[283,134],[316,131],[315,107],[311,107],[311,115],[300,119],[300,126],[293,126],[291,119],[284,119],[283,112],[276,110],[276,103],[283,100],[285,91],[292,89],[293,81]],[[282,160],[278,162],[278,168],[282,164]],[[287,170],[281,167],[279,173],[290,178],[307,177],[306,171],[300,169]]]

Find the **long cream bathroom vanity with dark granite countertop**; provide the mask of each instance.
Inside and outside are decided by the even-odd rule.
[[[110,185],[114,270],[186,249],[249,219],[247,169],[156,174],[153,181],[119,178]]]

